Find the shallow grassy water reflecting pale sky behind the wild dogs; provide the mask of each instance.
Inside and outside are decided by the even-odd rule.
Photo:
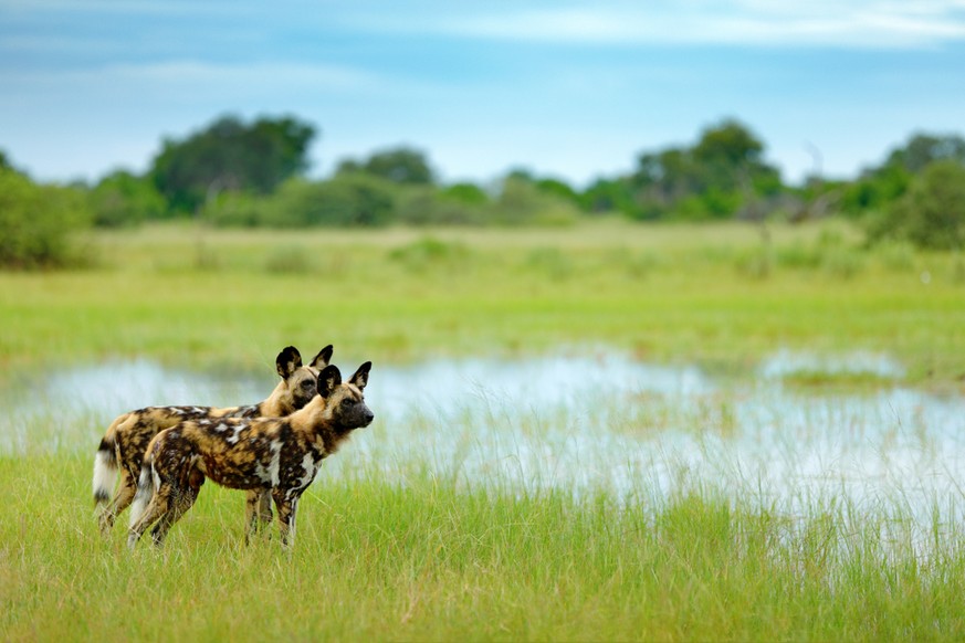
[[[847,496],[899,503],[926,520],[965,489],[965,400],[903,388],[861,393],[785,387],[794,369],[895,376],[879,356],[818,360],[779,352],[751,384],[612,352],[506,361],[376,365],[366,391],[376,423],[325,476],[411,467],[457,484],[606,486],[657,500],[709,485],[794,509]],[[349,370],[349,365],[344,365]],[[3,453],[93,453],[116,414],[148,404],[254,402],[275,379],[214,377],[149,361],[62,370],[2,391]],[[961,503],[958,503],[961,504]]]

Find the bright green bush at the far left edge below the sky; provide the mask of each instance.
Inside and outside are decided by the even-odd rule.
[[[78,190],[39,186],[0,167],[0,265],[36,268],[70,263],[78,259],[72,234],[88,223]]]

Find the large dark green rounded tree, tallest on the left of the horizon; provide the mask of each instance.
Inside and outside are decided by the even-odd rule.
[[[165,140],[151,177],[172,213],[193,213],[220,192],[271,193],[308,167],[315,136],[295,118],[245,125],[225,116],[185,140]]]

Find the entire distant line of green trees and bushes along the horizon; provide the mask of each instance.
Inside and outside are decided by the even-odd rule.
[[[764,143],[726,119],[693,145],[643,151],[632,170],[579,189],[526,170],[493,185],[445,183],[407,147],[343,160],[306,178],[316,129],[294,117],[244,123],[225,116],[165,139],[143,175],[116,171],[95,185],[40,186],[0,152],[0,264],[46,265],[65,235],[193,218],[221,226],[563,224],[618,213],[637,221],[847,217],[871,241],[959,249],[965,236],[965,140],[919,134],[852,180],[810,177],[788,186]],[[45,241],[42,241],[45,240]]]

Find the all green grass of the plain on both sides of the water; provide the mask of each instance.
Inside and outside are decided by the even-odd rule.
[[[264,371],[286,344],[333,342],[338,363],[376,365],[606,345],[734,377],[780,348],[869,350],[904,365],[908,384],[961,389],[959,257],[866,251],[827,225],[770,239],[615,221],[97,233],[88,267],[0,274],[0,387],[24,369],[135,356]],[[107,542],[94,528],[93,449],[0,454],[4,641],[965,636],[952,505],[923,539],[900,500],[816,498],[789,515],[712,488],[654,503],[646,483],[574,494],[407,462],[323,471],[291,556],[241,546],[242,498],[213,484],[162,552],[129,556],[123,524]]]

